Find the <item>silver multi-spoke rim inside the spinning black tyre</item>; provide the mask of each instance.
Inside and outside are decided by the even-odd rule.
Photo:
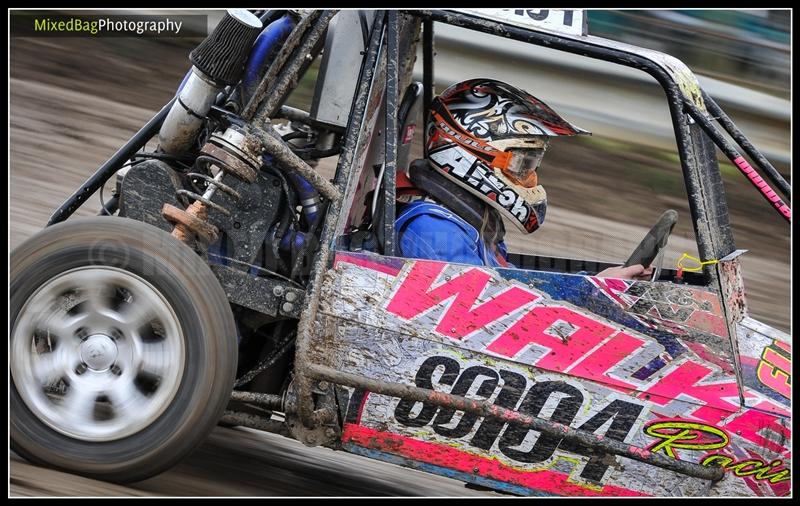
[[[152,424],[172,402],[186,357],[161,293],[115,267],[81,267],[36,290],[11,335],[23,402],[54,430],[111,441]]]

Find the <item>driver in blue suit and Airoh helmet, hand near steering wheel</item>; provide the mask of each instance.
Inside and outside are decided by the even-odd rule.
[[[544,223],[547,196],[536,169],[550,137],[589,134],[509,84],[470,79],[431,104],[425,159],[397,173],[400,255],[513,267],[505,217],[523,233]],[[601,277],[649,279],[652,268],[611,267]]]

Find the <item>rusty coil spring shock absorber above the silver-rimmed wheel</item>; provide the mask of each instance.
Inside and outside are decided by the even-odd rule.
[[[207,183],[201,195],[190,190],[178,190],[179,195],[194,200],[185,210],[164,204],[161,214],[170,223],[175,224],[172,235],[177,239],[192,244],[201,242],[209,245],[217,241],[219,231],[208,221],[209,209],[230,215],[230,211],[212,201],[217,190],[227,193],[234,199],[241,198],[238,192],[225,184],[228,174],[246,183],[252,183],[258,176],[260,167],[261,143],[247,131],[246,127],[231,125],[224,133],[212,134],[203,146],[200,156],[195,162],[195,172],[187,174],[192,179],[200,179]],[[213,174],[212,168],[217,169]],[[206,173],[213,174],[212,176]]]

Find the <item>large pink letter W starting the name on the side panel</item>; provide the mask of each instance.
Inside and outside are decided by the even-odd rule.
[[[410,320],[429,309],[454,299],[436,326],[436,331],[462,339],[475,330],[497,321],[541,297],[517,286],[476,306],[491,276],[480,269],[469,269],[431,288],[447,264],[418,261],[397,289],[387,311]]]

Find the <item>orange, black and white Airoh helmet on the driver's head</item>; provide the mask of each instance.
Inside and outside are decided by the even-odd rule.
[[[547,211],[536,169],[550,137],[590,134],[526,91],[494,79],[444,90],[431,104],[427,133],[425,157],[434,170],[528,234]]]

